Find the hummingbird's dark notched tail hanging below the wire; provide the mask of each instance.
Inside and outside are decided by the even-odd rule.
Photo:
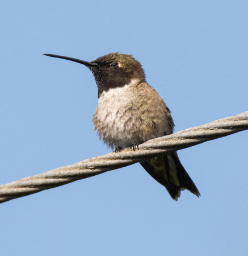
[[[165,186],[174,200],[178,200],[180,192],[184,189],[188,189],[197,197],[200,196],[200,192],[180,163],[176,152],[142,161],[140,164],[155,180]]]

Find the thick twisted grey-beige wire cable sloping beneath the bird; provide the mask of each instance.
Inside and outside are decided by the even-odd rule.
[[[195,146],[196,144],[247,129],[248,111],[152,139],[140,144],[139,150],[136,151],[125,148],[121,152],[111,152],[69,166],[56,168],[43,174],[0,185],[0,203],[129,166],[146,158]]]

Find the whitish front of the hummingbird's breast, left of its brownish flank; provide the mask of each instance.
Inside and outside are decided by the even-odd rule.
[[[127,147],[133,143],[132,131],[128,129],[132,117],[127,113],[127,109],[130,108],[134,98],[131,87],[137,82],[132,80],[130,84],[123,87],[104,91],[98,100],[93,116],[95,130],[98,131],[100,139],[112,148]]]

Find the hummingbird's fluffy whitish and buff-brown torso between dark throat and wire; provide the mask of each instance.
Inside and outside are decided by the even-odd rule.
[[[155,94],[153,100],[146,97],[146,93],[151,92]],[[112,148],[129,147],[136,142],[163,136],[166,131],[172,133],[173,127],[165,102],[145,82],[103,92],[93,122],[99,138]]]

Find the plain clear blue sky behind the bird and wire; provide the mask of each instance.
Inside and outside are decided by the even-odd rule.
[[[110,152],[91,61],[133,54],[175,131],[248,110],[247,1],[2,1],[2,184]],[[201,197],[139,164],[0,205],[2,255],[247,255],[247,131],[179,151]]]

